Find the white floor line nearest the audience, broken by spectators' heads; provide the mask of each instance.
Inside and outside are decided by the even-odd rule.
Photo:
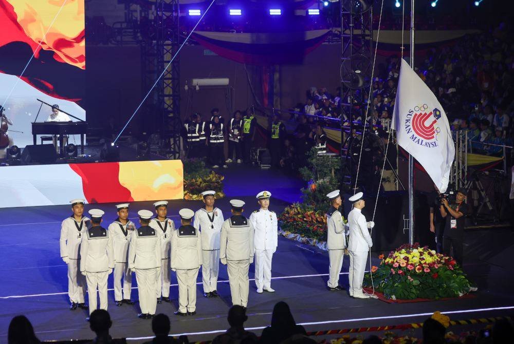
[[[443,314],[458,314],[458,313],[472,313],[472,312],[487,312],[487,311],[500,311],[500,310],[511,310],[514,309],[514,306],[508,307],[492,307],[492,308],[480,308],[473,310],[458,310],[458,311],[443,311]],[[408,317],[420,317],[420,316],[428,316],[432,315],[434,312],[430,313],[415,313],[415,314],[401,314],[401,315],[391,315],[391,316],[382,316],[382,317],[372,317],[372,318],[357,318],[357,319],[341,319],[341,320],[328,320],[328,321],[316,321],[316,322],[300,322],[299,325],[319,325],[319,324],[329,324],[329,323],[340,323],[340,322],[355,322],[355,321],[367,321],[367,320],[380,320],[380,319],[393,319],[393,318],[408,318]],[[266,328],[265,326],[259,327],[249,327],[245,328],[245,330],[262,330]],[[214,331],[204,331],[204,332],[190,332],[190,333],[176,333],[170,334],[170,336],[178,337],[182,335],[193,336],[200,334],[214,334],[214,333],[223,333],[227,330],[214,330]],[[126,338],[126,340],[142,340],[142,339],[151,339],[151,337],[135,337],[135,338]]]

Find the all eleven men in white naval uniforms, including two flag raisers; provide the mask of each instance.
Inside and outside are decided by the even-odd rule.
[[[61,225],[61,258],[68,265],[68,297],[70,310],[107,310],[107,277],[114,272],[116,306],[134,304],[131,298],[132,273],[135,273],[141,319],[155,315],[157,303],[170,301],[171,271],[178,282],[178,310],[175,315],[196,314],[196,279],[201,267],[204,296],[217,297],[219,264],[227,265],[233,305],[246,308],[249,294],[249,269],[255,261],[257,293],[271,288],[271,264],[278,245],[277,214],[269,209],[271,193],[260,192],[260,208],[249,218],[243,215],[245,202],[230,200],[232,216],[224,219],[221,209],[214,206],[215,192],[201,194],[205,206],[193,212],[180,209],[180,226],[168,218],[168,201],[154,203],[154,212],[137,213],[139,225],[128,219],[128,203],[116,205],[117,218],[107,229],[102,227],[104,212],[90,209],[85,217],[84,200],[71,203],[72,214]],[[370,298],[363,293],[362,279],[366,258],[373,246],[369,228],[361,209],[365,203],[358,193],[348,200],[353,210],[344,223],[339,211],[342,199],[339,190],[326,195],[331,208],[327,218],[329,256],[328,289],[344,290],[339,285],[344,251],[350,255],[350,295]],[[85,303],[86,285],[88,303]],[[98,292],[97,292],[98,291]],[[87,318],[89,320],[89,318]]]

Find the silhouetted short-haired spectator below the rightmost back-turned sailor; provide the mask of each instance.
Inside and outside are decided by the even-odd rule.
[[[240,305],[233,305],[228,311],[227,317],[230,328],[224,334],[215,337],[212,344],[232,344],[258,342],[257,336],[245,330],[244,323],[248,320],[246,308]]]

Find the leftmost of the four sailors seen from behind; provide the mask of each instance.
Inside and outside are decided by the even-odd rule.
[[[100,309],[107,310],[107,277],[114,269],[113,238],[100,225],[103,214],[100,209],[89,211],[91,227],[85,231],[80,245],[80,272],[86,276],[89,315],[97,309],[97,288]]]

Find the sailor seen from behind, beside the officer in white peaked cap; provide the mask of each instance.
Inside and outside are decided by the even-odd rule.
[[[250,286],[248,270],[254,254],[254,230],[250,220],[241,215],[245,202],[230,200],[230,205],[232,216],[222,226],[219,257],[222,264],[227,265],[232,305],[246,308]]]

